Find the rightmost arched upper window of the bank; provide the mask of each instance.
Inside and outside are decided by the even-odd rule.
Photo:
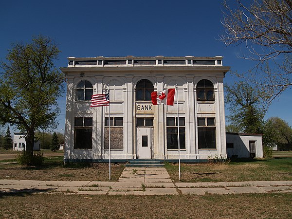
[[[214,98],[214,85],[211,81],[203,79],[197,84],[197,100],[209,101]]]

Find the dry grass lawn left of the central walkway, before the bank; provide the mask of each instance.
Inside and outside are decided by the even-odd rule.
[[[117,181],[124,164],[111,164],[111,181]],[[45,158],[41,167],[1,164],[0,179],[53,181],[109,181],[109,164],[63,165],[63,157]]]

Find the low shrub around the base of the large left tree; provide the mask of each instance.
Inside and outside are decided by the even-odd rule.
[[[33,155],[23,150],[18,153],[17,162],[25,166],[40,166],[44,162],[44,155],[40,151],[35,152]]]

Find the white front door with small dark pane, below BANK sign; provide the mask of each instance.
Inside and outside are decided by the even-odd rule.
[[[152,128],[137,128],[137,147],[140,159],[151,159]]]

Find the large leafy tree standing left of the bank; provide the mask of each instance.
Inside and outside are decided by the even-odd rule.
[[[0,123],[15,125],[25,132],[26,153],[32,160],[36,130],[57,125],[57,98],[63,90],[63,75],[54,66],[60,53],[49,37],[33,37],[8,50],[0,77]]]

